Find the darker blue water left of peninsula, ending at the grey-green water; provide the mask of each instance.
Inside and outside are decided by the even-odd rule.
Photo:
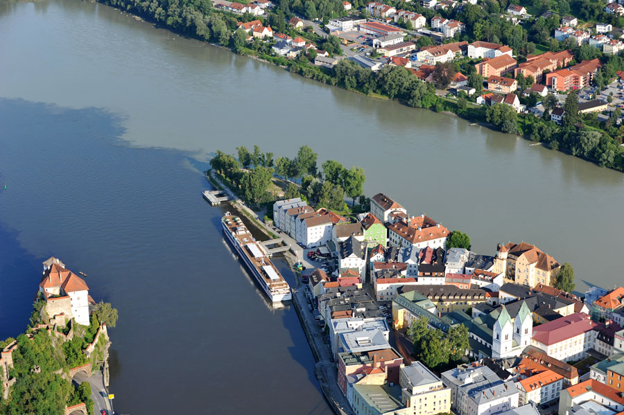
[[[0,125],[3,337],[24,330],[55,255],[119,310],[110,389],[123,412],[331,413],[295,311],[268,309],[225,245],[225,206],[201,197],[206,166],[125,145],[123,117],[103,109],[0,99]],[[250,364],[266,376],[241,399]]]

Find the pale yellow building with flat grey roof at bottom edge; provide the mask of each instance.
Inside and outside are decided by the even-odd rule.
[[[401,403],[413,415],[435,415],[451,412],[451,388],[445,387],[442,380],[415,361],[411,366],[401,368]],[[412,409],[409,411],[409,409]]]

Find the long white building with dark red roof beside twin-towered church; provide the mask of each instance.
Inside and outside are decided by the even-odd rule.
[[[555,359],[580,360],[593,348],[596,326],[588,315],[574,313],[533,328],[531,342]]]

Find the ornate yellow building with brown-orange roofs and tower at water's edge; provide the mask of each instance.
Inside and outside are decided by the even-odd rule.
[[[561,265],[535,245],[526,242],[499,245],[494,258],[494,272],[503,273],[506,281],[535,287],[552,286]]]

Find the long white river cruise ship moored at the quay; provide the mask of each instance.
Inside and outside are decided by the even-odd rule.
[[[291,288],[243,221],[229,212],[221,218],[223,232],[273,303],[292,299]]]

